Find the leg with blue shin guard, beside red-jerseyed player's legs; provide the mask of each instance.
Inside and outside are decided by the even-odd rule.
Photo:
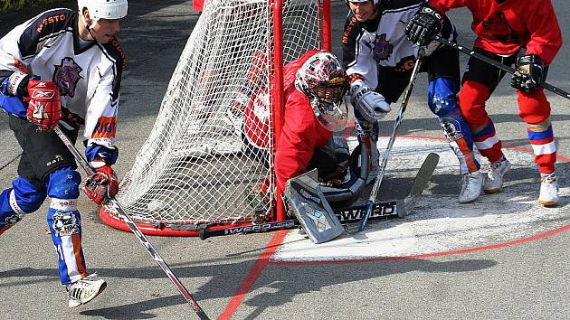
[[[473,155],[470,127],[458,106],[459,52],[442,47],[426,61],[428,68],[428,106],[442,125],[443,133],[460,163],[461,192],[459,202],[472,202],[483,185],[480,164]]]

